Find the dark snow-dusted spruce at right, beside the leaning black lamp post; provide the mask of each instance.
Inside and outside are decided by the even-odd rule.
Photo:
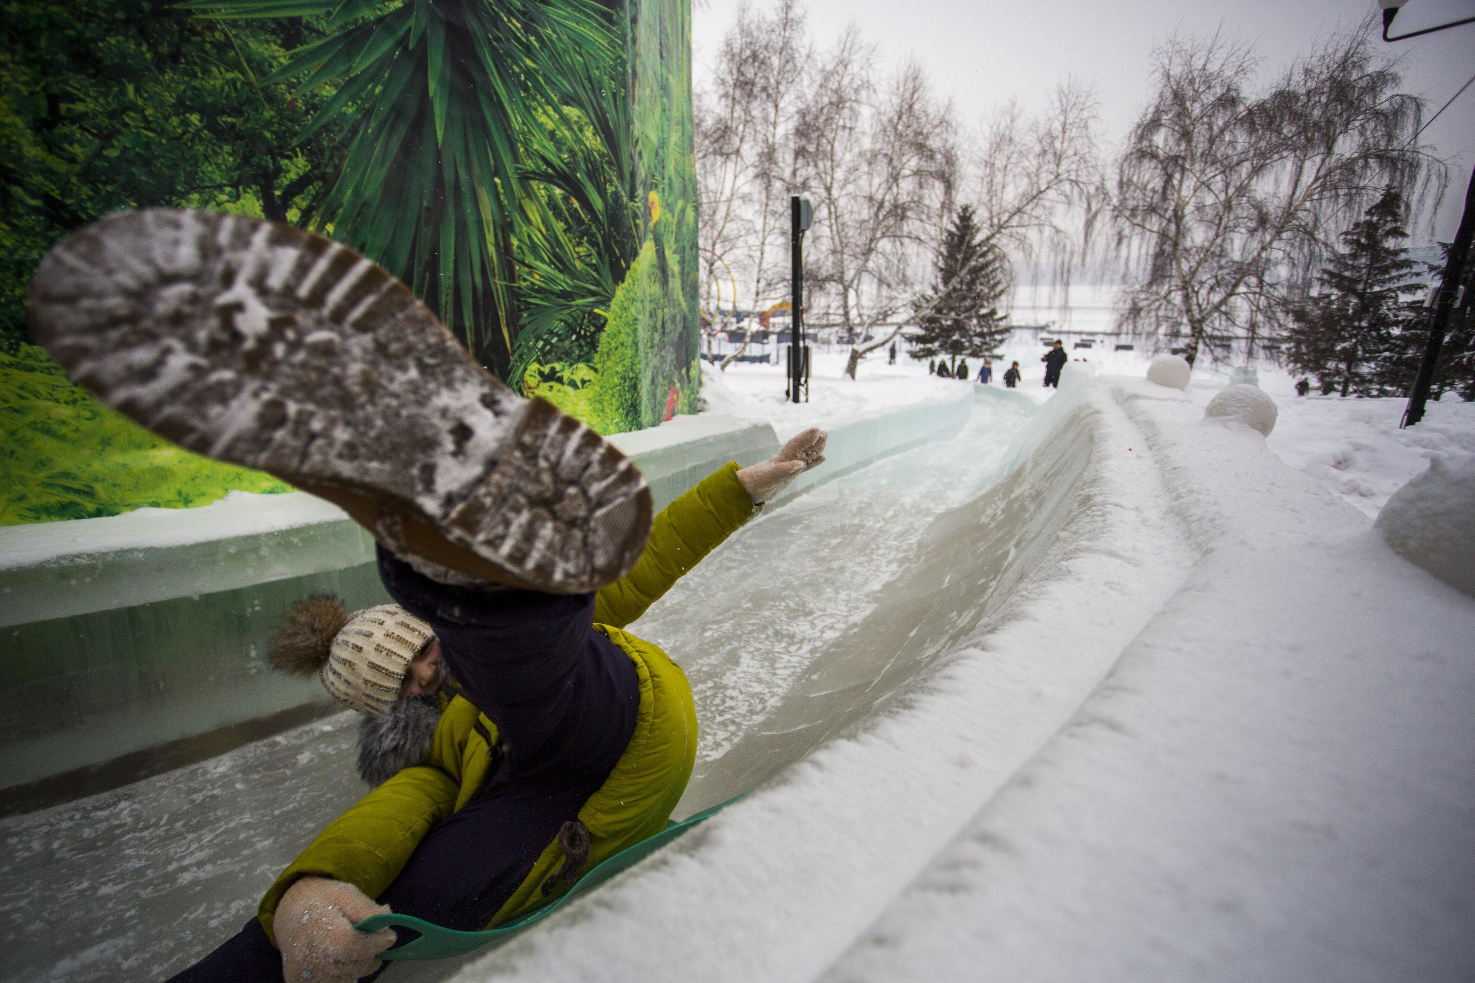
[[[1344,249],[1322,268],[1320,293],[1294,312],[1289,363],[1323,393],[1394,396],[1413,382],[1407,349],[1417,315],[1406,298],[1419,281],[1400,245],[1407,237],[1403,199],[1388,189],[1342,233]]]

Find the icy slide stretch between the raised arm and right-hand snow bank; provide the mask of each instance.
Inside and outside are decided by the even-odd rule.
[[[702,744],[677,815],[757,788],[875,713],[1041,562],[1077,504],[1093,433],[1062,435],[1000,482],[1047,427],[1022,427],[1034,407],[999,395],[1015,396],[981,393],[956,441],[745,528],[640,622],[686,654],[698,703]]]

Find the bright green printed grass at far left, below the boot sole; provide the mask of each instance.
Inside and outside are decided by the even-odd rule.
[[[74,386],[35,345],[0,352],[0,525],[208,506],[292,491],[162,441]]]

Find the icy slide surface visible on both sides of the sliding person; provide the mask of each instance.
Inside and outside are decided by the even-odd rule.
[[[979,393],[957,438],[760,516],[634,626],[696,693],[702,744],[678,816],[757,787],[870,713],[1007,597],[1028,566],[1019,534],[1052,532],[987,532],[1012,501],[988,489],[1034,414],[1018,393]],[[1063,455],[1049,494],[1069,495],[1084,458]],[[969,535],[979,523],[984,535]],[[353,752],[344,713],[0,821],[0,977],[178,971],[236,931],[361,794]],[[466,961],[401,964],[388,979],[444,979]]]

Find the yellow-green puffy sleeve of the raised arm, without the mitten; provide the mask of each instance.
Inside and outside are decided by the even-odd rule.
[[[752,516],[752,500],[738,482],[738,464],[704,477],[650,523],[650,538],[630,573],[594,597],[594,622],[624,628],[655,604]]]

